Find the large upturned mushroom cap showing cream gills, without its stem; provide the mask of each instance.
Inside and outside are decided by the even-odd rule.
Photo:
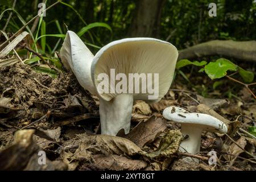
[[[171,43],[154,38],[127,38],[114,41],[102,47],[94,56],[91,72],[94,86],[100,81],[97,76],[106,73],[110,77],[110,69],[115,69],[115,75],[124,73],[127,78],[127,93],[129,73],[152,73],[152,88],[154,88],[154,73],[159,74],[158,98],[150,102],[159,101],[171,86],[174,77],[178,51]],[[109,79],[110,80],[110,79]],[[115,81],[115,85],[119,81]],[[140,79],[141,82],[141,79]],[[134,100],[148,100],[152,93],[133,93]],[[106,101],[112,100],[118,93],[98,93]]]

